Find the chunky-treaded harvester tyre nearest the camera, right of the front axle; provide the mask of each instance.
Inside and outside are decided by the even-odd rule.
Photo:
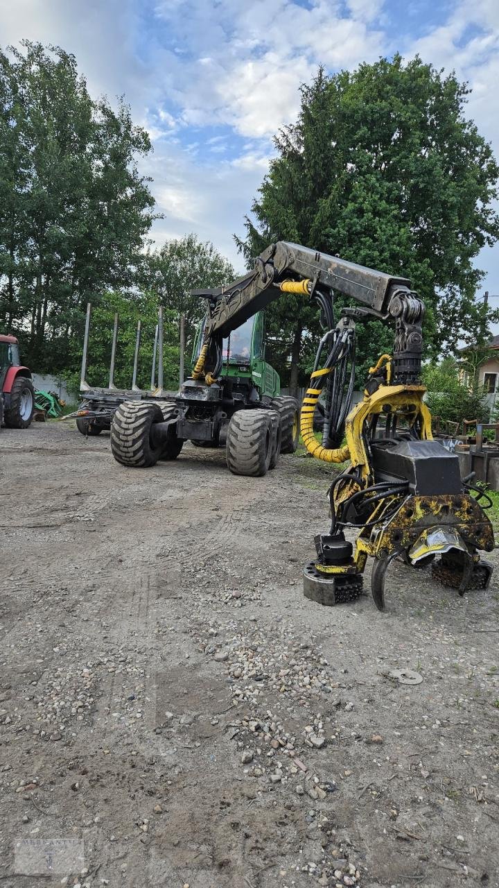
[[[227,430],[226,461],[234,475],[265,475],[272,459],[273,421],[269,410],[237,410]]]

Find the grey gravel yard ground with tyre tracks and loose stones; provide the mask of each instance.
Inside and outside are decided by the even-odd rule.
[[[499,572],[308,601],[329,470],[299,456],[127,471],[33,424],[0,477],[2,885],[499,884]]]

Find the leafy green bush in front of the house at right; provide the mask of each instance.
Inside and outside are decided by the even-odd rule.
[[[463,419],[487,422],[485,392],[478,386],[463,385],[459,365],[453,358],[446,358],[440,364],[427,364],[423,369],[423,381],[428,389],[426,402],[432,416],[460,425]]]

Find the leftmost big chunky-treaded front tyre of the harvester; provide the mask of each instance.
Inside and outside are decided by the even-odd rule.
[[[148,468],[162,456],[164,445],[154,447],[151,427],[162,423],[158,404],[123,401],[111,424],[111,450],[116,462],[132,468]]]

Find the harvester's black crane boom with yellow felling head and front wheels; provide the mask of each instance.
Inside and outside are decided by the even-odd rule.
[[[111,428],[115,459],[130,466],[173,459],[184,440],[217,442],[226,428],[229,469],[265,474],[277,460],[283,414],[253,379],[224,375],[223,340],[282,293],[302,293],[318,304],[324,335],[300,432],[313,456],[341,464],[329,487],[331,525],[315,537],[315,557],[305,566],[305,596],[324,605],[359,598],[369,556],[379,610],[387,567],[397,557],[415,568],[432,562],[435,578],[460,595],[486,588],[492,567],[479,551],[494,548],[481,505],[487,495],[472,488],[470,478],[461,479],[458,457],[432,438],[420,379],[424,304],[410,281],[277,242],[249,274],[197,292],[208,311],[192,377],[174,404],[118,408]],[[343,308],[336,324],[335,292],[359,304]],[[381,355],[369,370],[364,398],[351,409],[355,323],[371,319],[394,323],[393,353]],[[321,441],[313,432],[320,397]],[[347,528],[359,531],[355,543],[345,538]]]

